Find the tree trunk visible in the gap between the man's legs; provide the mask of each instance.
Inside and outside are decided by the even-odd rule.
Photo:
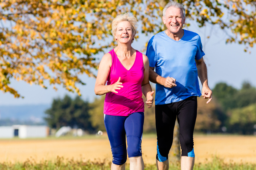
[[[173,133],[173,142],[172,148],[169,153],[170,161],[180,161],[180,127],[176,119],[174,133]]]

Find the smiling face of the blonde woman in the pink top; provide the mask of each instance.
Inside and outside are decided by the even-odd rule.
[[[122,21],[116,26],[115,39],[121,43],[129,43],[132,41],[133,34],[131,24],[128,21]]]

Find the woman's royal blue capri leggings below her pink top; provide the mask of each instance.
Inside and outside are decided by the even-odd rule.
[[[104,114],[104,122],[113,155],[113,164],[124,164],[127,159],[127,153],[129,158],[142,156],[143,112],[131,113],[129,116]],[[127,151],[125,134],[128,145]]]

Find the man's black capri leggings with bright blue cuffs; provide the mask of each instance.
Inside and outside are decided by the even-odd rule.
[[[197,115],[197,96],[180,102],[156,105],[157,160],[166,161],[172,147],[176,117],[180,125],[181,156],[195,157],[193,132]]]

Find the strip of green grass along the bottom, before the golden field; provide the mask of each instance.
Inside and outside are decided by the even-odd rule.
[[[55,161],[41,161],[40,163],[30,159],[23,163],[0,163],[0,170],[110,170],[109,161],[75,161],[57,157]],[[126,170],[129,164],[126,165]],[[156,170],[156,166],[145,164],[145,170]],[[180,170],[180,163],[170,164],[170,170]],[[223,159],[214,157],[211,162],[195,164],[194,170],[256,170],[256,164],[249,163],[224,163]]]

